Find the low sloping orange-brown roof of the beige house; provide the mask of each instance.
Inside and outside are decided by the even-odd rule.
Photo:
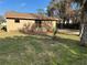
[[[44,17],[35,13],[18,13],[18,12],[8,12],[6,13],[7,19],[32,19],[32,20],[58,20],[52,17]]]

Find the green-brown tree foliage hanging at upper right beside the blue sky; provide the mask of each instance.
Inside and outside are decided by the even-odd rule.
[[[53,13],[52,13],[53,10],[52,9],[54,9],[54,10],[57,9],[59,11],[59,14],[58,14],[59,18],[63,18],[64,19],[65,17],[68,17],[69,14],[72,14],[72,12],[69,10],[73,10],[72,7],[75,3],[77,4],[77,7],[76,7],[75,10],[76,11],[79,11],[79,10],[77,10],[77,8],[83,4],[83,1],[84,0],[58,0],[58,1],[56,1],[56,3],[55,3],[55,1],[52,1],[51,4],[47,8],[47,11],[48,11],[48,14],[50,15],[53,15]],[[76,12],[76,14],[77,14],[77,12]]]

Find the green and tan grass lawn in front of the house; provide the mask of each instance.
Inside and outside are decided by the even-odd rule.
[[[87,47],[79,36],[0,33],[0,65],[87,65]]]

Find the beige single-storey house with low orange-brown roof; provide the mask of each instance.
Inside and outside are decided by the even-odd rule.
[[[29,30],[32,29],[32,25],[35,24],[37,26],[44,26],[45,24],[50,24],[53,26],[58,19],[44,17],[35,13],[18,13],[18,12],[8,12],[6,13],[7,20],[7,31],[19,31],[22,30],[25,25],[30,25]]]

